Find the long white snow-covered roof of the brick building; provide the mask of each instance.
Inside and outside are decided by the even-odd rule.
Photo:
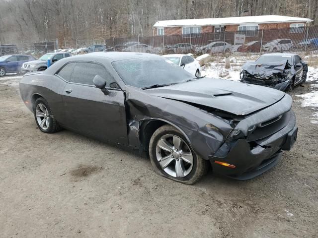
[[[292,16],[238,16],[224,18],[203,18],[203,19],[183,19],[157,21],[153,27],[165,26],[205,26],[205,25],[234,25],[248,23],[278,23],[278,22],[311,22],[310,18]]]

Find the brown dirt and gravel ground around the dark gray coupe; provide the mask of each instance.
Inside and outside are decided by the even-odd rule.
[[[272,170],[195,185],[157,175],[147,158],[74,132],[45,134],[0,78],[1,238],[318,237],[318,124],[292,96],[299,134]]]

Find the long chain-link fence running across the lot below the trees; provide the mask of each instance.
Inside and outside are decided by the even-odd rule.
[[[46,40],[40,43],[1,44],[0,56],[28,54],[39,57],[45,53],[68,51],[72,55],[96,51],[143,52],[154,54],[263,54],[289,52],[317,54],[318,26],[298,28],[223,31],[171,36],[136,36],[127,38],[63,41]]]

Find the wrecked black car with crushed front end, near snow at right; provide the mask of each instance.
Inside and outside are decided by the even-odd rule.
[[[299,55],[273,53],[246,62],[240,73],[241,82],[291,91],[305,83],[308,65]]]

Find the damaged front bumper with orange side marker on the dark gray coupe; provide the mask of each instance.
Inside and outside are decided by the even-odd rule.
[[[219,150],[230,147],[230,151],[225,157],[209,156],[213,171],[234,179],[245,180],[274,167],[281,158],[282,151],[290,150],[297,138],[295,114],[293,111],[289,113],[292,114],[289,123],[266,138],[252,142],[238,139],[236,142],[223,144]]]

